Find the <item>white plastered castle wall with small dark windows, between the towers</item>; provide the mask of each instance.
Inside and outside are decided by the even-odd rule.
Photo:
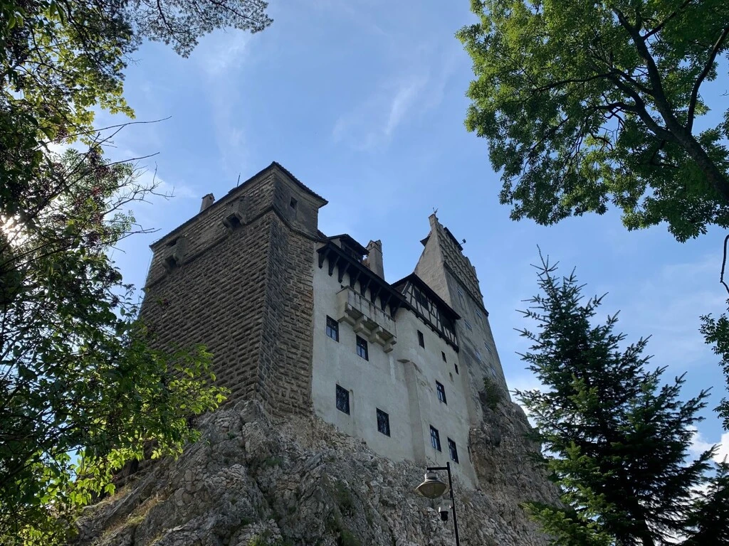
[[[362,438],[376,453],[396,461],[445,466],[450,460],[451,438],[459,455],[454,472],[465,485],[475,487],[467,448],[469,418],[464,389],[468,381],[463,371],[455,371],[457,353],[408,309],[399,309],[395,316],[394,349],[386,353],[381,345],[369,342],[369,361],[356,354],[356,334],[347,323],[339,323],[339,341],[330,339],[327,315],[337,317],[337,293],[348,287],[348,282],[347,275],[342,282],[336,273],[330,276],[326,264],[314,268],[314,411],[339,430]],[[359,290],[359,284],[355,288]],[[418,331],[423,333],[425,348],[418,344]],[[446,404],[438,400],[435,381],[445,387]],[[337,385],[349,391],[348,415],[336,407]],[[378,431],[378,408],[389,414],[390,436]],[[431,425],[440,433],[440,452],[431,446]]]

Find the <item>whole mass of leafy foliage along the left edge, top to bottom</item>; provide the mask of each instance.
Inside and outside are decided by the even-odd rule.
[[[217,407],[211,355],[163,352],[108,253],[153,187],[104,159],[98,108],[144,39],[187,56],[261,31],[261,0],[0,0],[0,542],[65,543],[80,508],[143,456],[176,454]],[[68,145],[63,154],[58,150]]]

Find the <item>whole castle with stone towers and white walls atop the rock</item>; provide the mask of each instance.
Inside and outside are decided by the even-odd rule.
[[[327,201],[274,162],[152,245],[141,316],[161,344],[214,353],[230,398],[311,414],[376,453],[451,462],[478,485],[469,431],[484,379],[506,390],[475,268],[433,214],[414,272],[380,241],[318,229]]]

